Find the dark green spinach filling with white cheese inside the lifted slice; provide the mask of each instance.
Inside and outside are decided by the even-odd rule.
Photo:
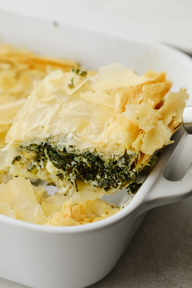
[[[111,188],[126,187],[130,193],[135,193],[139,188],[139,184],[134,182],[138,174],[134,155],[125,153],[118,160],[115,158],[104,159],[89,151],[78,154],[75,150],[67,152],[65,148],[62,151],[56,150],[47,143],[32,144],[22,148],[37,154],[28,167],[28,170],[34,175],[46,165],[47,159],[49,159],[59,169],[59,173],[56,175],[60,179],[70,180],[76,190],[77,179],[103,188],[105,191]]]

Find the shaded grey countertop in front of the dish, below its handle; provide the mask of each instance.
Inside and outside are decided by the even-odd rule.
[[[0,287],[26,288],[2,278]],[[132,287],[192,287],[192,197],[149,211],[115,268],[88,288]]]

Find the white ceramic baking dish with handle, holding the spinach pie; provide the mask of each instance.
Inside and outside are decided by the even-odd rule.
[[[192,60],[162,44],[70,24],[54,25],[51,20],[3,10],[0,40],[42,54],[72,58],[88,69],[121,62],[139,74],[146,69],[166,70],[174,82],[172,90],[186,86],[191,95],[187,104],[192,104]],[[181,129],[175,143],[165,149],[131,203],[108,219],[80,227],[42,227],[0,215],[0,277],[35,288],[81,288],[107,275],[126,249],[144,212],[192,194],[192,139],[183,132]],[[168,181],[163,175],[178,181]],[[118,195],[110,200],[121,202],[123,193]]]

